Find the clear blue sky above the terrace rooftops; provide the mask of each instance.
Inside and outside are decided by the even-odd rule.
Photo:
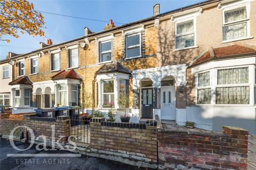
[[[108,21],[113,19],[119,23],[129,23],[153,16],[153,6],[160,4],[160,12],[167,12],[179,7],[202,1],[30,1],[35,10],[77,16],[81,18]],[[45,36],[51,38],[53,44],[74,39],[84,35],[84,27],[92,32],[102,31],[107,22],[68,18],[65,16],[42,13],[45,21]],[[119,23],[116,23],[119,22]],[[28,53],[39,48],[39,43],[46,43],[46,37],[22,35],[19,38],[4,36],[10,43],[0,41],[0,60],[5,59],[8,52],[16,54]]]

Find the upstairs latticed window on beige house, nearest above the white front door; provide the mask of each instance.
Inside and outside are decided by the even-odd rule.
[[[194,20],[176,24],[175,49],[195,46]]]

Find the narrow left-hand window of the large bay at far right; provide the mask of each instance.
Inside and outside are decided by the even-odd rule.
[[[197,104],[211,104],[210,72],[198,74]]]

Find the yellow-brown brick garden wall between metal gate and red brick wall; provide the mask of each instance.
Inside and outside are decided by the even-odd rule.
[[[91,156],[135,166],[157,167],[156,126],[100,121],[90,126]]]

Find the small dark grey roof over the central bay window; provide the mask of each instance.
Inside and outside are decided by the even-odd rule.
[[[125,74],[131,74],[130,70],[124,67],[122,64],[116,62],[111,64],[104,64],[97,72],[96,74],[105,74],[105,73],[125,73]]]

